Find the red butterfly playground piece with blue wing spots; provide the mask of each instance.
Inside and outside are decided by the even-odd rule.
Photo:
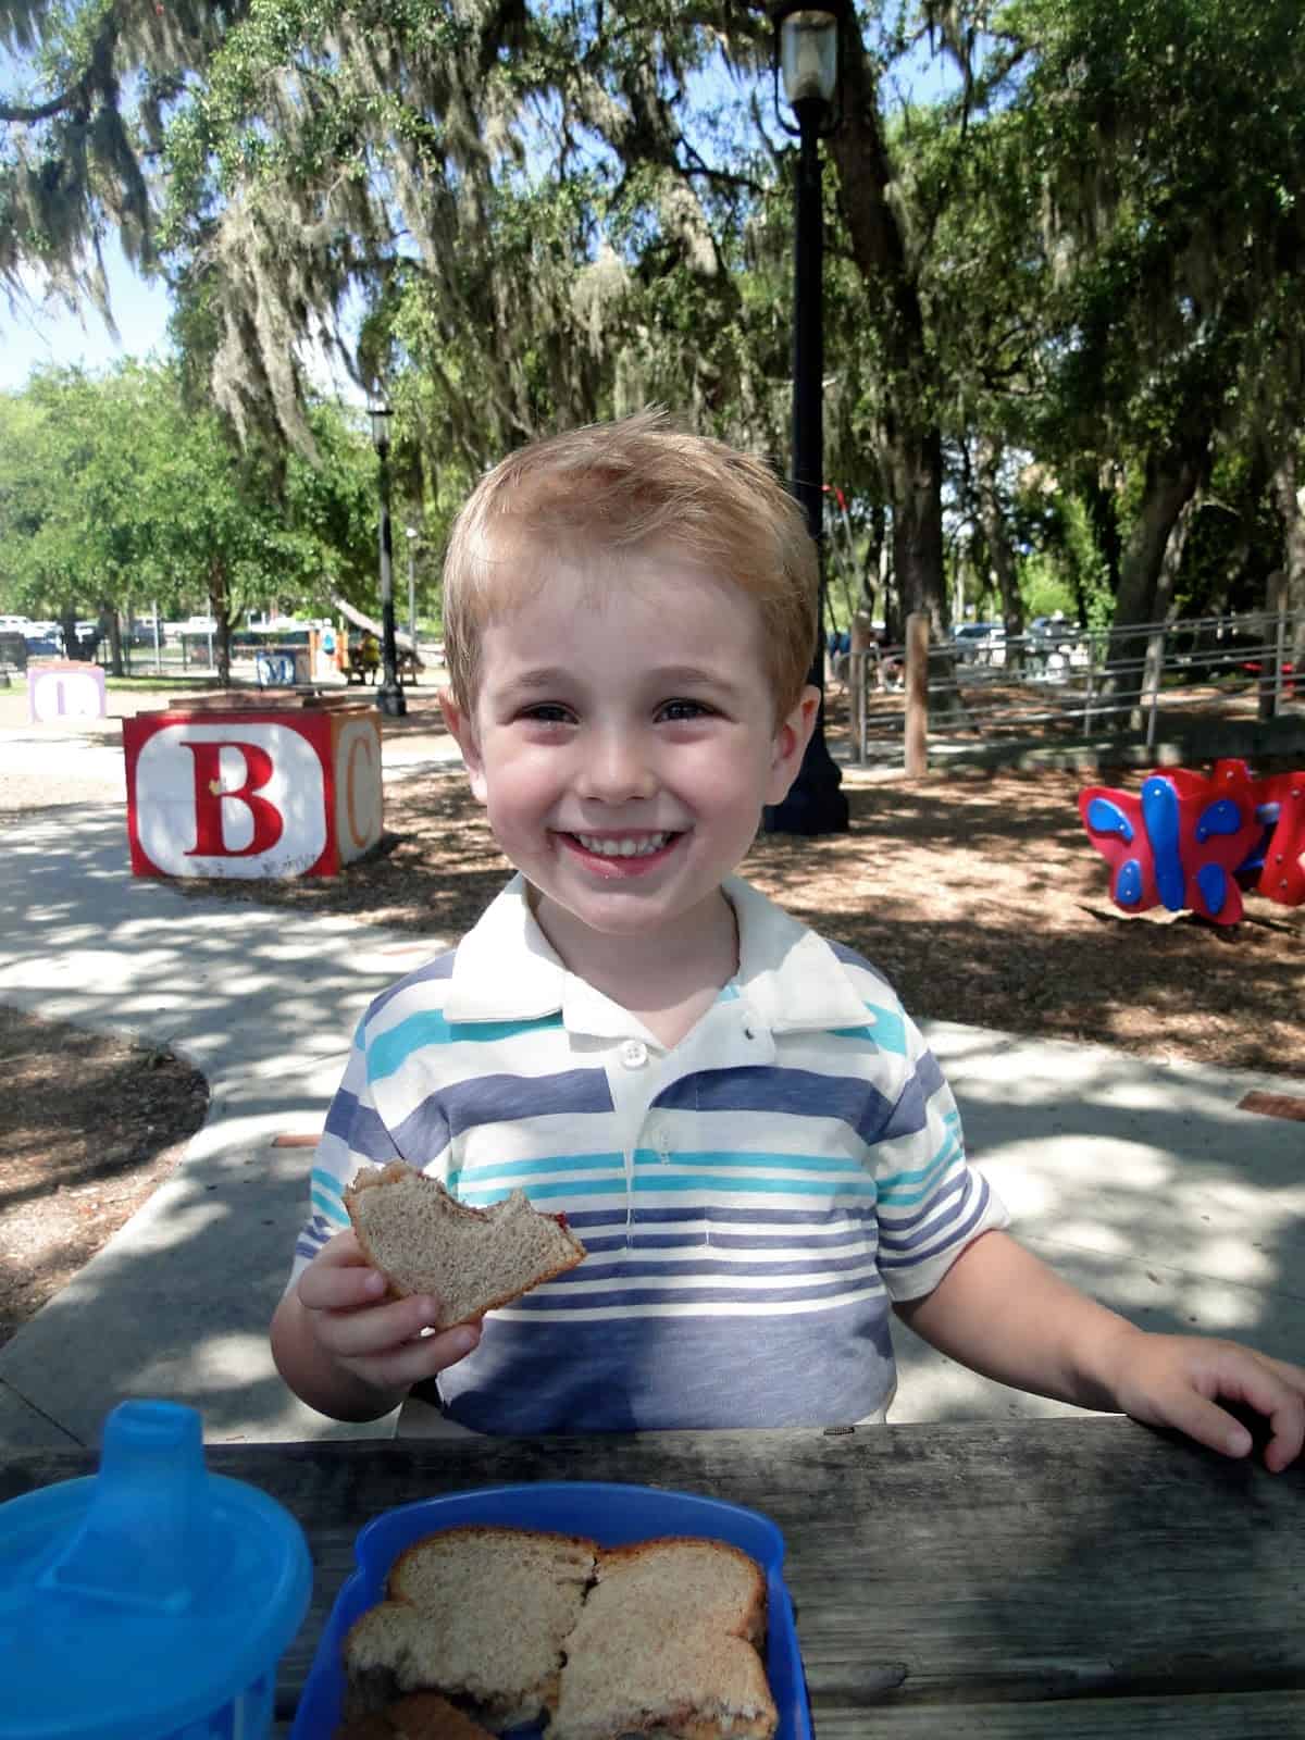
[[[1305,901],[1305,767],[1258,780],[1242,760],[1213,774],[1152,773],[1141,792],[1079,792],[1088,837],[1110,865],[1122,912],[1168,907],[1237,924],[1242,889],[1282,907]]]

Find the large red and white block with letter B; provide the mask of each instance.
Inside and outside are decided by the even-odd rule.
[[[137,713],[122,743],[134,875],[336,875],[381,837],[371,708]]]

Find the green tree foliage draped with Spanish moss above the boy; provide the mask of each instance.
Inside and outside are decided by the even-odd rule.
[[[981,437],[1046,484],[1006,489],[1030,609],[1098,619],[1148,480],[1190,461],[1220,482],[1180,595],[1253,590],[1253,456],[1305,385],[1298,0],[873,0],[856,30],[825,452],[858,538],[891,506],[938,604]],[[374,458],[315,402],[310,339],[395,404],[426,574],[480,468],[546,428],[665,402],[785,465],[793,153],[759,0],[21,0],[0,40],[0,282],[97,298],[118,228],[181,350],[162,400],[113,385],[117,445],[87,428],[108,383],[0,405],[0,515],[30,527],[5,588],[195,592],[218,562],[230,600],[275,576],[365,604]],[[59,466],[80,506],[45,501]]]

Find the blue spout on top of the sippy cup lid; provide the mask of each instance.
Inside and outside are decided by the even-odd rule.
[[[207,1488],[193,1408],[120,1402],[104,1422],[85,1517],[38,1585],[160,1613],[188,1608],[204,1564]]]

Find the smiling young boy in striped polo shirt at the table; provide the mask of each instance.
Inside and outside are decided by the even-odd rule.
[[[444,715],[519,875],[364,1016],[271,1326],[311,1406],[482,1432],[882,1420],[891,1314],[1002,1383],[1265,1462],[1305,1371],[1147,1335],[1002,1228],[893,990],[733,872],[802,760],[816,557],[759,463],[663,418],[505,459],[445,564]],[[477,1328],[383,1300],[341,1204],[402,1159],[520,1185],[586,1260]]]

